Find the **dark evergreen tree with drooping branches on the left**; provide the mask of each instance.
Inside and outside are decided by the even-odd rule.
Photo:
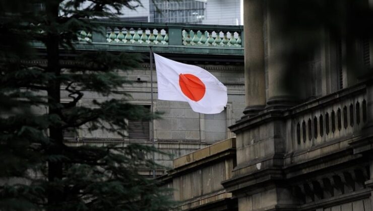
[[[154,167],[143,152],[155,149],[64,143],[69,128],[121,134],[126,119],[157,117],[129,103],[129,95],[110,98],[128,82],[118,73],[137,67],[138,55],[74,49],[77,32],[99,32],[93,20],[115,18],[122,7],[139,4],[1,1],[0,210],[164,210],[171,205],[156,181],[137,171]],[[33,48],[35,42],[45,48]],[[74,55],[73,61],[61,62],[61,54]],[[61,90],[69,92],[69,103],[61,103]],[[77,106],[84,90],[108,99],[93,100],[94,108]]]

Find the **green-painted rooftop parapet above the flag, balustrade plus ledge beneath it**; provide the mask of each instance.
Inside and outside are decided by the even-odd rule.
[[[77,50],[243,56],[243,26],[93,21],[98,30],[78,32]],[[34,42],[36,48],[44,48]]]

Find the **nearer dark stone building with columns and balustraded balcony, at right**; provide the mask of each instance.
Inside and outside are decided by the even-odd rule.
[[[244,1],[246,107],[229,126],[234,144],[176,159],[161,178],[178,189],[182,210],[373,210],[372,42],[336,40],[322,28],[313,35],[320,46],[297,63],[287,53],[301,43],[284,33],[278,5],[295,2]],[[347,2],[339,4],[356,7]],[[302,74],[289,75],[289,63]],[[184,189],[211,175],[196,191]]]

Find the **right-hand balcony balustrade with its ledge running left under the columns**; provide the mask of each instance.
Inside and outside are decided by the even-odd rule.
[[[366,84],[361,83],[283,112],[265,111],[254,118],[238,121],[230,129],[233,132],[249,129],[273,119],[285,121],[289,132],[287,153],[309,151],[335,140],[350,139],[360,133],[367,120],[366,89]]]

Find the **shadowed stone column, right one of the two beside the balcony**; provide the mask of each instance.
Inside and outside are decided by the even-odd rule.
[[[291,62],[290,49],[292,40],[284,32],[285,20],[281,13],[282,1],[268,0],[267,36],[268,36],[268,99],[267,108],[287,108],[296,103],[296,98],[290,93],[287,86],[287,74]],[[296,77],[291,80],[297,80]]]

